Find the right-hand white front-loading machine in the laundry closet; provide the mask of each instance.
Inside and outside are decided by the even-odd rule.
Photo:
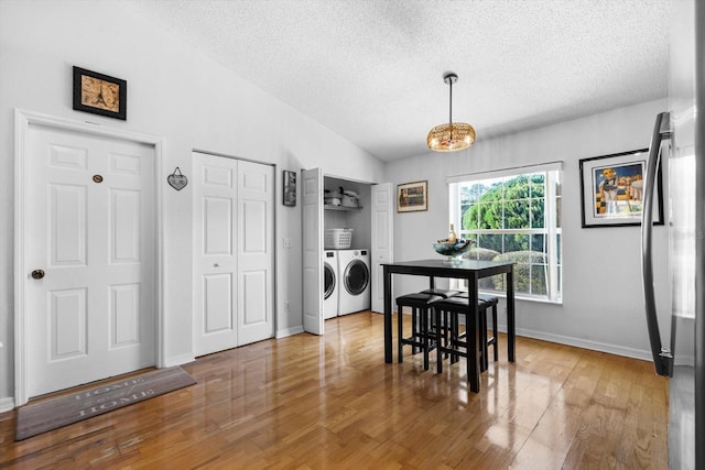
[[[369,253],[369,250],[338,250],[338,315],[370,308]]]

